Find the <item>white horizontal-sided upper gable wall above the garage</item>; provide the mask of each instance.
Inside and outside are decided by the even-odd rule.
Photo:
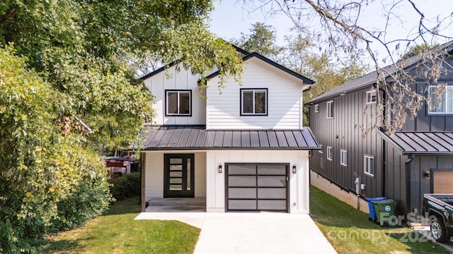
[[[260,59],[245,62],[242,84],[232,78],[219,88],[219,77],[207,85],[207,129],[302,128],[302,80]],[[241,116],[241,88],[268,89],[267,116]]]

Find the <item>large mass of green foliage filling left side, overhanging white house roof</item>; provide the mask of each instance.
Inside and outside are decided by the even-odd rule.
[[[205,27],[211,10],[211,0],[0,2],[1,253],[40,251],[43,234],[105,210],[98,152],[129,145],[154,114],[132,63],[148,54],[239,78],[234,48]]]

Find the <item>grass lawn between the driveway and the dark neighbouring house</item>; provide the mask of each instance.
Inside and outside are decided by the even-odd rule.
[[[338,253],[449,253],[409,228],[382,228],[368,214],[311,187],[311,217]]]

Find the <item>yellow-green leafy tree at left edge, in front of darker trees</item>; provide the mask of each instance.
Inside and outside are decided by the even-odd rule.
[[[103,162],[86,137],[62,132],[62,93],[0,49],[0,252],[40,250],[42,235],[108,206]]]

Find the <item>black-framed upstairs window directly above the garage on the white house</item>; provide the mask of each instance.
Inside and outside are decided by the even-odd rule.
[[[268,89],[241,89],[241,116],[267,116]]]

